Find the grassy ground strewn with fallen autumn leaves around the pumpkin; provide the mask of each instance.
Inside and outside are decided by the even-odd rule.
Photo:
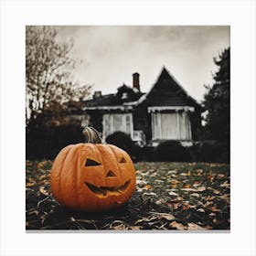
[[[230,229],[229,165],[137,163],[128,204],[97,214],[59,205],[50,192],[51,165],[26,162],[26,229]]]

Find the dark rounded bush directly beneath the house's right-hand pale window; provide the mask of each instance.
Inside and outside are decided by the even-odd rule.
[[[176,141],[166,141],[156,148],[158,161],[161,162],[188,162],[191,161],[189,151]]]

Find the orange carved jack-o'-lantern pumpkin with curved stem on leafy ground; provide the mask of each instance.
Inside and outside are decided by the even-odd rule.
[[[50,175],[53,196],[67,208],[100,211],[125,204],[135,189],[130,156],[112,144],[101,144],[92,127],[87,143],[70,144],[57,155]]]

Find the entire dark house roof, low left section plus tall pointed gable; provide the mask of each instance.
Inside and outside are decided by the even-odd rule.
[[[90,101],[83,102],[83,110],[98,109],[106,107],[198,107],[200,104],[188,95],[187,91],[176,81],[174,76],[165,69],[162,69],[155,84],[148,93],[142,93],[125,84],[117,89],[115,94],[102,95]]]

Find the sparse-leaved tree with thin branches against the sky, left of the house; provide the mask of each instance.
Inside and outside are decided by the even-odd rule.
[[[91,86],[74,80],[71,70],[76,61],[69,58],[73,46],[57,40],[53,27],[26,27],[26,121],[68,101],[89,96]]]

